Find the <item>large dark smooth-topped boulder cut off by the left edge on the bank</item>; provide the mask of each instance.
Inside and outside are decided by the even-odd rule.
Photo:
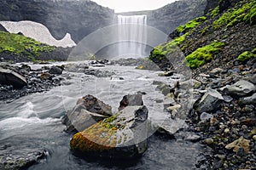
[[[27,85],[26,78],[15,71],[0,68],[0,83],[12,85],[15,88],[23,88]]]

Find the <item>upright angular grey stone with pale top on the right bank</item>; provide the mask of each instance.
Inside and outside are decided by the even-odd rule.
[[[197,111],[207,112],[218,109],[219,103],[224,100],[221,94],[217,90],[209,88],[207,93],[203,95],[199,102]]]

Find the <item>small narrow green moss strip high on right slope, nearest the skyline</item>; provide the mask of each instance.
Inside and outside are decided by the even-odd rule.
[[[190,20],[187,24],[177,27],[178,33],[184,33],[194,29],[196,26],[200,26],[203,21],[207,20],[206,16],[198,17],[195,20]]]

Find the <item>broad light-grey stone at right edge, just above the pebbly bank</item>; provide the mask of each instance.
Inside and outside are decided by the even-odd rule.
[[[245,96],[247,94],[253,93],[255,91],[255,86],[251,82],[245,80],[240,80],[232,85],[227,85],[224,88],[220,88],[224,93],[230,94],[232,96]]]

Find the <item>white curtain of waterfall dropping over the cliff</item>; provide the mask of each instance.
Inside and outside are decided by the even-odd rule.
[[[147,15],[118,15],[119,57],[146,56]]]

